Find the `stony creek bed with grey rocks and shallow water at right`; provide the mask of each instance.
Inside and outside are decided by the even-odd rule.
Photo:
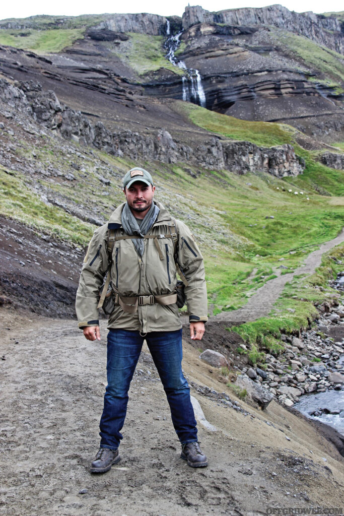
[[[344,292],[344,271],[332,286]],[[265,369],[243,367],[241,372],[286,407],[344,436],[344,306],[334,299],[332,306],[324,303],[321,308],[315,327],[299,337],[281,335],[285,352],[267,354]]]

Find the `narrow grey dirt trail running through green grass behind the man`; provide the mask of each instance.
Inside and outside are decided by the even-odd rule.
[[[244,307],[233,310],[232,312],[222,312],[212,317],[211,320],[218,322],[247,322],[267,316],[272,310],[274,303],[282,294],[283,288],[288,281],[291,281],[295,275],[313,274],[315,269],[321,264],[321,256],[323,253],[342,242],[344,242],[344,229],[336,238],[325,242],[319,249],[310,253],[306,257],[304,264],[298,267],[294,272],[289,272],[281,276],[281,270],[276,270],[274,273],[277,275],[277,278],[267,281],[262,287],[258,288],[257,292]]]

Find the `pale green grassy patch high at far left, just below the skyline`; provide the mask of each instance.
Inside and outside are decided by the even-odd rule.
[[[38,54],[60,52],[83,37],[84,29],[0,30],[0,44],[34,50]]]

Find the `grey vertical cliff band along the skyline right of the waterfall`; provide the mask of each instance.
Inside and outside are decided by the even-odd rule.
[[[313,12],[301,14],[289,11],[282,5],[228,9],[220,12],[209,12],[200,6],[185,8],[183,14],[184,30],[198,23],[211,22],[247,27],[272,25],[306,36],[340,54],[344,53],[341,24],[335,17],[325,17]]]

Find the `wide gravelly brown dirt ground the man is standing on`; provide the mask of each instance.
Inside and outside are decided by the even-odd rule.
[[[105,475],[89,464],[99,443],[106,383],[102,341],[86,341],[75,321],[29,320],[1,309],[4,331],[0,424],[0,514],[6,516],[194,516],[266,514],[268,507],[340,507],[338,451],[312,424],[271,402],[240,402],[248,415],[202,395],[233,394],[219,372],[185,343],[183,367],[211,432],[199,425],[209,466],[191,469],[180,447],[147,349],[129,392],[121,461]]]

